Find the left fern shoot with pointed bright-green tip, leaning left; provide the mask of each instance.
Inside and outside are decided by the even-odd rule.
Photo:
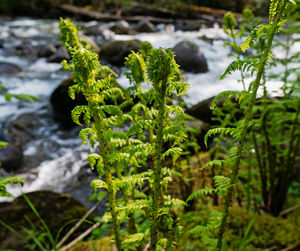
[[[109,106],[105,104],[111,94],[122,96],[122,91],[116,87],[112,87],[110,77],[99,79],[103,73],[111,74],[112,72],[105,67],[100,66],[98,55],[92,52],[84,41],[78,39],[78,29],[69,20],[60,20],[60,39],[64,46],[72,55],[69,68],[73,69],[73,78],[76,85],[69,89],[71,98],[75,98],[75,93],[82,92],[88,102],[86,106],[77,106],[72,111],[72,119],[75,123],[81,125],[80,116],[84,114],[84,122],[90,128],[83,129],[81,136],[85,141],[87,134],[90,134],[90,142],[92,145],[95,141],[99,142],[100,155],[91,154],[88,158],[93,165],[97,162],[97,170],[100,176],[104,171],[106,182],[95,180],[92,186],[95,188],[103,187],[107,189],[111,221],[118,250],[121,250],[121,237],[119,223],[117,219],[116,208],[116,190],[114,188],[112,172],[109,163],[109,149],[107,147],[107,127],[111,121],[106,117],[106,113],[121,116],[122,112],[117,106]],[[65,66],[66,63],[65,63]],[[91,122],[91,120],[94,122]],[[83,143],[84,143],[83,141]]]

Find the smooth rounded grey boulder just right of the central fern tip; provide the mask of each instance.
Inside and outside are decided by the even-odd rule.
[[[175,45],[173,51],[175,60],[181,69],[194,73],[208,71],[206,59],[196,44],[190,41],[182,41]]]

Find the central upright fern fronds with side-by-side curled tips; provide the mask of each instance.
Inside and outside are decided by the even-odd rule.
[[[170,250],[180,232],[178,216],[173,208],[184,205],[184,202],[166,194],[167,184],[174,172],[164,167],[164,163],[170,158],[175,163],[180,157],[182,149],[179,144],[186,139],[186,130],[182,124],[182,108],[169,100],[172,95],[184,94],[188,85],[178,78],[178,65],[170,49],[151,49],[149,44],[143,44],[139,53],[132,52],[128,56],[126,65],[130,69],[127,76],[132,83],[129,91],[139,100],[131,110],[134,122],[129,131],[145,131],[146,134],[141,136],[151,149],[147,157],[153,163],[147,209],[150,250],[156,250],[159,246]],[[142,84],[145,83],[148,83],[148,87],[143,88]]]

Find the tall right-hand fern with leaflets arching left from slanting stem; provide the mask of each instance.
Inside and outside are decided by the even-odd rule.
[[[234,33],[234,27],[236,22],[232,14],[227,14],[224,17],[225,29],[226,32],[233,38],[233,42],[230,44],[232,48],[236,52],[236,60],[233,61],[224,74],[221,76],[225,78],[229,76],[233,71],[240,71],[242,73],[241,78],[244,79],[244,72],[251,72],[253,76],[255,76],[254,81],[252,81],[247,90],[242,92],[232,92],[232,91],[225,91],[218,94],[214,101],[212,108],[223,98],[229,98],[235,95],[235,99],[240,104],[242,108],[243,117],[242,119],[237,122],[236,126],[232,127],[219,127],[214,128],[208,131],[206,134],[205,139],[207,140],[208,137],[213,135],[228,135],[233,137],[234,141],[236,142],[236,146],[233,146],[231,150],[227,153],[228,159],[226,160],[212,160],[207,165],[219,165],[227,164],[228,166],[232,166],[232,173],[230,178],[224,176],[216,176],[217,179],[216,188],[206,188],[199,191],[194,192],[191,195],[192,198],[197,198],[203,193],[211,193],[214,192],[215,189],[218,193],[222,193],[222,195],[226,195],[226,202],[224,206],[223,214],[220,217],[214,217],[213,224],[210,225],[209,223],[204,228],[202,226],[196,227],[189,231],[190,234],[200,234],[201,232],[205,231],[206,229],[214,229],[218,228],[218,241],[215,243],[214,250],[221,250],[222,243],[223,243],[223,233],[225,229],[225,224],[228,215],[228,208],[231,203],[232,194],[234,187],[237,182],[237,176],[240,169],[240,164],[245,151],[248,151],[248,148],[245,148],[245,141],[248,137],[248,131],[253,126],[253,108],[257,98],[257,91],[261,85],[264,85],[264,73],[266,66],[270,63],[272,59],[271,54],[271,46],[274,39],[275,33],[280,31],[281,26],[286,21],[285,15],[287,12],[287,6],[293,1],[285,1],[285,0],[274,0],[271,1],[270,4],[270,13],[269,13],[269,24],[260,24],[254,27],[251,32],[249,33],[248,37],[246,38],[245,42],[240,46],[237,45],[236,36],[239,34],[238,32]],[[265,45],[263,47],[262,53],[259,57],[252,57],[252,58],[244,58],[241,59],[240,55],[242,52],[245,52],[248,48],[253,47],[256,45],[256,42],[259,39],[263,39],[265,41]],[[297,114],[296,114],[297,117]],[[295,124],[294,124],[295,125]],[[292,141],[294,144],[295,142]],[[211,164],[210,164],[211,163]],[[220,187],[221,190],[218,189]],[[215,220],[214,220],[215,219]]]

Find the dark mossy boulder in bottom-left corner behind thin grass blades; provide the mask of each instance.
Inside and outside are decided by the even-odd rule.
[[[87,209],[81,203],[68,194],[39,191],[28,193],[27,197],[47,224],[53,238],[55,238],[62,226],[71,220],[82,218],[87,212]],[[16,198],[12,203],[0,203],[0,221],[15,229],[17,233],[22,236],[26,236],[23,227],[33,230],[24,216],[27,216],[37,229],[42,227],[41,221],[34,214],[23,196]],[[92,220],[93,217],[94,215],[92,214],[88,219]],[[74,224],[75,223],[66,225],[60,234],[60,238],[62,238]],[[89,224],[83,223],[79,229],[71,235],[70,240],[73,240],[88,227],[90,227]],[[44,231],[41,230],[39,234],[41,233],[44,233]],[[21,238],[1,224],[0,240],[0,250],[28,250]]]

